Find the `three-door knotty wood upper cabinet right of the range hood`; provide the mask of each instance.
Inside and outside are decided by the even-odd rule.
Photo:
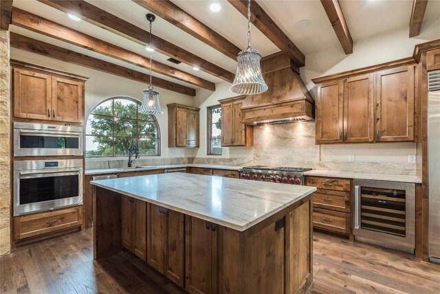
[[[343,77],[318,83],[316,144],[414,140],[415,65]]]

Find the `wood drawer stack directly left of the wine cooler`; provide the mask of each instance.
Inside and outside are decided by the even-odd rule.
[[[306,185],[318,188],[313,194],[314,227],[353,238],[351,179],[307,177]]]

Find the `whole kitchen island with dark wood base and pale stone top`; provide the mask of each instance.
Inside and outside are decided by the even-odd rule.
[[[92,181],[94,258],[133,252],[190,293],[303,293],[313,187],[198,174]]]

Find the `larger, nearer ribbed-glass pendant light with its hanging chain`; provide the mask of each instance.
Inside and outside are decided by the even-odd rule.
[[[260,60],[260,52],[252,49],[250,45],[250,0],[248,0],[248,48],[236,56],[238,65],[234,82],[229,88],[232,93],[256,95],[267,91],[267,84],[261,74]]]

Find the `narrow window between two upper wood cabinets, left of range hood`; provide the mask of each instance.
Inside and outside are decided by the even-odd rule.
[[[221,155],[221,106],[208,107],[208,155]]]

